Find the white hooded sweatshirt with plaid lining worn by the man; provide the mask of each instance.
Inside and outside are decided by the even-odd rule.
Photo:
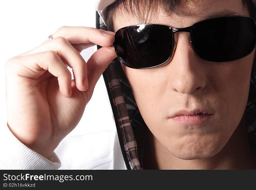
[[[104,24],[104,9],[114,1],[95,1],[97,29],[107,30]],[[101,46],[97,45],[97,49],[99,48]],[[86,120],[83,121],[82,117],[77,127],[90,127],[91,130],[79,131],[82,135],[66,136],[53,154],[49,158],[44,158],[20,142],[6,125],[1,129],[6,138],[1,142],[0,169],[143,169],[141,158],[147,126],[138,110],[118,58],[109,64],[98,83],[106,97],[103,98],[105,101],[102,106],[107,106],[106,110],[112,115],[104,127],[97,128],[97,122],[95,125],[87,126]],[[247,129],[253,146],[256,146],[255,105],[254,68],[246,106]],[[142,144],[140,151],[137,147],[138,141]],[[8,146],[3,146],[6,143]]]

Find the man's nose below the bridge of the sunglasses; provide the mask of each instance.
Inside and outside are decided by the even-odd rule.
[[[177,35],[176,35],[177,34]],[[195,53],[187,32],[176,33],[176,48],[169,66],[172,70],[171,87],[182,94],[198,93],[206,85],[206,65]]]

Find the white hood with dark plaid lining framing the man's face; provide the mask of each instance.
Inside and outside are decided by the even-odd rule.
[[[97,29],[107,30],[103,16],[104,9],[114,1],[95,0]],[[253,1],[256,4],[256,0]],[[101,46],[97,45],[97,49],[99,48]],[[138,141],[140,144],[145,141],[147,125],[138,110],[131,87],[120,64],[118,58],[115,58],[102,75],[113,110],[125,165],[127,169],[143,169],[141,162],[143,151],[138,149],[137,144]],[[256,68],[251,73],[246,112],[250,142],[256,146]]]

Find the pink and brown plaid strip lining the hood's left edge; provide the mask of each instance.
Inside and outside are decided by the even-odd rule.
[[[129,114],[132,113],[132,109],[130,109],[129,105],[132,106],[132,104],[126,104],[125,102],[125,99],[130,100],[129,97],[131,96],[131,94],[129,93],[129,96],[127,94],[127,96],[125,96],[126,98],[124,98],[123,96],[118,75],[118,69],[116,67],[116,65],[118,64],[120,63],[117,63],[116,59],[114,59],[104,71],[103,77],[105,83],[109,87],[109,96],[111,97],[110,101],[112,101],[113,103],[113,114],[115,122],[117,123],[117,129],[118,131],[120,131],[121,147],[123,147],[123,149],[125,150],[124,154],[129,162],[129,167],[131,169],[142,169],[138,159],[138,150],[134,137],[133,127],[131,126],[131,120],[129,118]],[[129,110],[129,114],[127,111],[127,107]]]

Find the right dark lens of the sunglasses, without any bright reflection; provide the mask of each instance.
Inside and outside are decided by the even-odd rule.
[[[248,17],[219,17],[196,23],[191,42],[198,56],[211,62],[234,61],[255,47],[255,22]]]

